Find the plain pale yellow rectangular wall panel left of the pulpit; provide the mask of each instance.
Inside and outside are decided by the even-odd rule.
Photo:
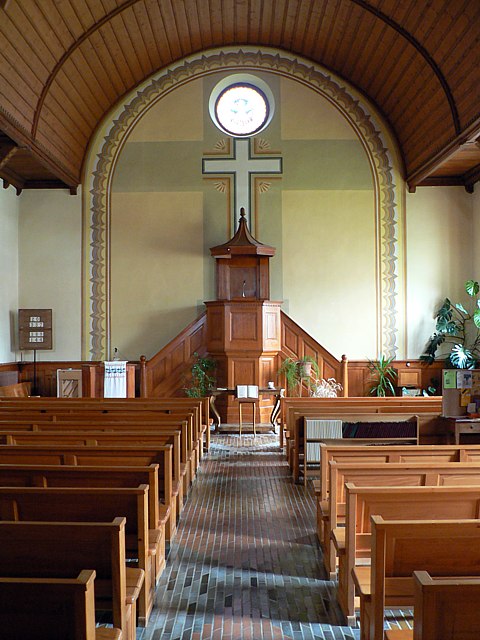
[[[112,347],[150,358],[203,311],[202,194],[116,192],[112,212]]]

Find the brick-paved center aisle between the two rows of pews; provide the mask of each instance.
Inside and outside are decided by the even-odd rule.
[[[274,435],[215,435],[182,513],[141,640],[336,640],[335,583],[315,502],[292,483]]]

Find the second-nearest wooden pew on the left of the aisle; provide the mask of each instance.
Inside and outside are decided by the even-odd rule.
[[[85,567],[96,572],[96,608],[112,611],[122,640],[135,640],[144,575],[125,566],[125,518],[110,523],[0,522],[3,577],[73,578]]]

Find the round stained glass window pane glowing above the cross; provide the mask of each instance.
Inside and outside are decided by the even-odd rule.
[[[258,87],[234,84],[217,98],[215,115],[218,123],[232,136],[251,136],[268,120],[268,100]]]

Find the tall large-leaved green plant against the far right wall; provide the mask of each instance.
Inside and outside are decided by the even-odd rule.
[[[470,296],[469,309],[460,302],[452,303],[445,298],[435,318],[435,333],[429,338],[420,360],[431,364],[439,348],[450,350],[446,365],[454,369],[474,369],[480,359],[480,285],[476,280],[465,282],[465,291]]]

